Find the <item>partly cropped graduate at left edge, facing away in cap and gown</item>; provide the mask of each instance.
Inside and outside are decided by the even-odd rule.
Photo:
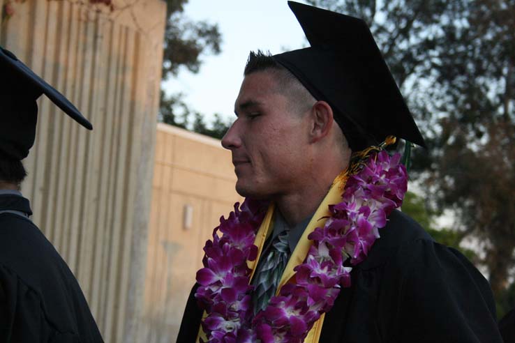
[[[0,342],[103,342],[77,280],[20,192],[41,94],[85,128],[91,123],[2,47],[0,75]]]

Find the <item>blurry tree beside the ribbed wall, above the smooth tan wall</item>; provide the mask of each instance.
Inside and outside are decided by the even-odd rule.
[[[202,54],[218,54],[221,51],[221,34],[218,31],[218,25],[188,20],[184,16],[184,5],[188,3],[188,0],[167,0],[166,3],[163,79],[176,77],[182,67],[191,73],[197,73],[202,63]],[[198,113],[192,113],[182,97],[182,93],[167,96],[161,90],[159,119],[181,128],[190,128],[188,122],[193,115],[195,116],[194,131],[202,130],[200,133],[220,136],[218,131],[222,130],[220,125],[224,123],[221,118],[216,117],[214,128],[208,129],[203,117]]]

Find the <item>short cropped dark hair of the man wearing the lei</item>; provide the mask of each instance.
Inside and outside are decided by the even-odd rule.
[[[261,71],[274,73],[279,86],[278,92],[290,98],[292,105],[296,106],[299,112],[305,112],[316,102],[316,99],[301,84],[299,79],[290,70],[278,63],[270,52],[251,51],[248,55],[244,76]]]

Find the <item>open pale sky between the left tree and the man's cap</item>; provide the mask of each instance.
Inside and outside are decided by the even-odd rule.
[[[163,85],[167,93],[184,93],[188,107],[204,114],[208,122],[215,113],[234,119],[248,52],[262,49],[277,54],[307,45],[286,0],[190,0],[184,11],[191,20],[218,23],[222,52],[202,56],[199,73],[183,68]]]

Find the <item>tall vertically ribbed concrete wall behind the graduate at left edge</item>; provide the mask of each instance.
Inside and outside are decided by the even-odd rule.
[[[14,14],[0,25],[0,44],[94,126],[42,97],[22,192],[110,343],[135,342],[141,317],[165,26],[163,1],[113,5],[10,1]]]

